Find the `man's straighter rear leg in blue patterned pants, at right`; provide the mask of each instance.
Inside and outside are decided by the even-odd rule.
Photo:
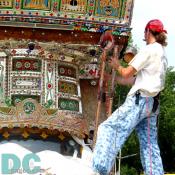
[[[157,116],[143,119],[136,127],[140,142],[140,157],[145,175],[163,175],[163,165],[157,143]],[[150,164],[151,162],[151,164]]]

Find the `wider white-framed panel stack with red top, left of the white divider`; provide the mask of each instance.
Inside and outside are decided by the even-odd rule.
[[[11,50],[11,56],[8,59],[9,81],[8,96],[6,96],[6,99],[11,99],[11,102],[8,103],[16,105],[27,98],[43,103],[42,62],[37,52],[30,54],[27,49]]]

